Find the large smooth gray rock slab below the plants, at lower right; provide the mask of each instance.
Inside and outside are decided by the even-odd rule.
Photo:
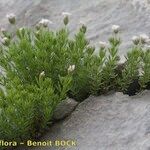
[[[129,97],[114,93],[90,97],[42,140],[72,139],[76,147],[36,150],[149,150],[150,91]]]

